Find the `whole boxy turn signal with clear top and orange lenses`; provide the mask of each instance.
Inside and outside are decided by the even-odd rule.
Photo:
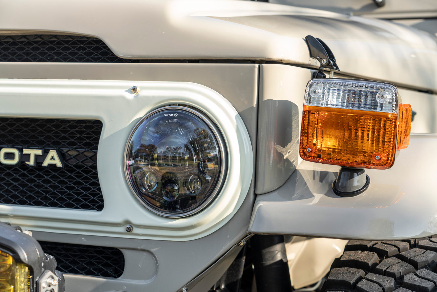
[[[396,149],[406,148],[411,107],[399,103],[388,83],[312,79],[303,106],[302,159],[348,167],[388,169]]]

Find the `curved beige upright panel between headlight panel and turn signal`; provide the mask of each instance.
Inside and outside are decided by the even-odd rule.
[[[282,186],[296,169],[305,87],[311,70],[260,65],[257,194]]]

